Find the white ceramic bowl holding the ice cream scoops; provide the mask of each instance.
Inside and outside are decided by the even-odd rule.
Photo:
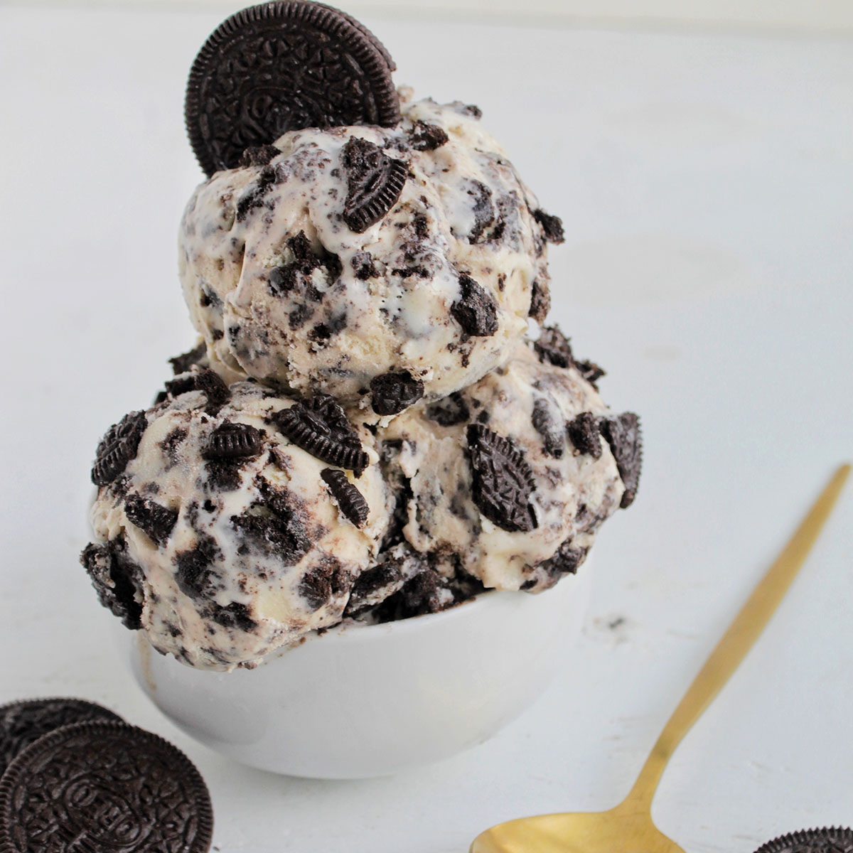
[[[193,670],[123,636],[154,704],[223,755],[287,775],[387,775],[482,743],[537,699],[580,633],[589,570],[539,595],[311,635],[254,670]]]

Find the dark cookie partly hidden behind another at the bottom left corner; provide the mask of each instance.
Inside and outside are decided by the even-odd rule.
[[[0,705],[0,776],[27,746],[73,722],[115,720],[118,714],[84,699],[24,699]]]

